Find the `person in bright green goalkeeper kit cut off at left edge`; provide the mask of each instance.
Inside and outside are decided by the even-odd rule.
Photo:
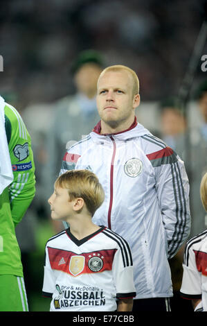
[[[35,196],[35,165],[24,121],[1,96],[0,129],[0,311],[28,311],[15,228]]]

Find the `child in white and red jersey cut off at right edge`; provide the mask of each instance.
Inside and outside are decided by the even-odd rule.
[[[201,180],[200,194],[207,212],[207,173]],[[187,242],[180,291],[182,298],[192,300],[194,311],[207,311],[207,229]]]

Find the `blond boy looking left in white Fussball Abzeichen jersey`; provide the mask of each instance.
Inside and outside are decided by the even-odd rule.
[[[42,291],[52,297],[50,311],[132,311],[136,291],[128,243],[91,221],[104,198],[91,171],[67,171],[55,181],[51,217],[70,228],[46,243]]]

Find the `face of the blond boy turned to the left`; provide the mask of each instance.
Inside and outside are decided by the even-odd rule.
[[[48,199],[48,203],[51,205],[51,218],[53,220],[64,221],[73,213],[73,200],[70,200],[67,189],[56,187]]]

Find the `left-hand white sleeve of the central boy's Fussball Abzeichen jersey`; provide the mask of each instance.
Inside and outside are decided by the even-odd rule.
[[[49,261],[48,248],[46,247],[42,295],[48,298],[52,298],[54,291],[55,291],[55,276]]]

